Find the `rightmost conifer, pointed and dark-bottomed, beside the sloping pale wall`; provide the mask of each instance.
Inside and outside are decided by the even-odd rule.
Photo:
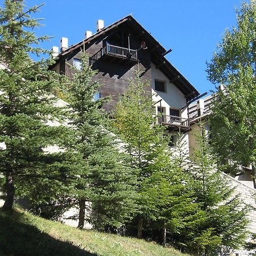
[[[179,230],[175,241],[189,253],[211,255],[222,246],[236,249],[245,242],[249,207],[242,203],[228,176],[217,166],[200,129],[200,148],[195,150],[193,166],[184,169],[190,176],[187,184],[199,206],[198,215]]]

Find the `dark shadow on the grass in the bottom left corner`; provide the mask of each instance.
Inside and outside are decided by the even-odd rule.
[[[0,208],[0,255],[97,256],[40,232],[35,226],[24,223],[23,218],[22,213],[7,214]]]

